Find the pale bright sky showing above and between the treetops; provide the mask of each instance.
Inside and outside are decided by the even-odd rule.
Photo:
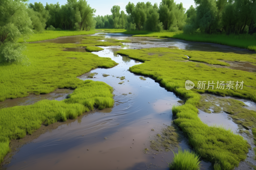
[[[96,9],[95,15],[107,15],[107,14],[111,14],[110,9],[112,8],[112,6],[114,5],[119,5],[121,10],[120,11],[125,11],[125,6],[128,4],[128,2],[134,3],[136,4],[137,2],[151,2],[151,4],[155,4],[157,3],[157,5],[159,6],[159,3],[162,0],[87,0],[88,4],[90,4],[90,6],[92,8]],[[42,4],[46,4],[46,2],[48,4],[56,4],[57,2],[59,2],[60,5],[64,5],[67,0],[29,0],[28,3],[32,3],[34,4],[35,2],[41,2]],[[191,6],[195,6],[194,0],[176,0],[176,3],[183,3],[183,7],[186,8],[186,10]]]

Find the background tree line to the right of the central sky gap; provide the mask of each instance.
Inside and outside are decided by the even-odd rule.
[[[96,16],[96,28],[125,28],[128,30],[178,31],[184,33],[256,33],[255,0],[194,0],[189,9],[174,0],[129,2],[125,11],[111,8],[112,15]]]

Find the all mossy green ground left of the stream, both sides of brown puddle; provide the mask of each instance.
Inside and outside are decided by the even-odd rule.
[[[65,36],[77,34],[68,33],[71,34]],[[50,31],[49,39],[55,36],[52,34],[56,32]],[[91,48],[100,49],[94,46],[122,45],[120,41],[113,39],[99,41],[103,39],[105,38],[86,36],[80,44],[28,43],[23,52],[27,61],[0,63],[0,101],[25,97],[31,93],[46,94],[57,88],[75,89],[63,101],[41,100],[33,105],[0,109],[0,162],[10,151],[10,140],[32,134],[42,123],[49,125],[75,119],[94,107],[103,109],[113,106],[112,87],[103,82],[83,81],[76,77],[97,67],[110,68],[117,63],[89,52],[63,51],[65,48],[93,46]]]

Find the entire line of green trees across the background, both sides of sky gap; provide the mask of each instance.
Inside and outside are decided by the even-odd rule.
[[[64,5],[27,4],[28,0],[0,0],[0,63],[22,60],[20,37],[47,30],[89,31],[96,28],[179,31],[184,33],[256,33],[255,0],[194,0],[186,10],[174,0],[129,2],[125,11],[111,8],[111,15],[95,16],[86,0],[67,0]]]

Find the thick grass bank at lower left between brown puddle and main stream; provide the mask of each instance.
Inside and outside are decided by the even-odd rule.
[[[41,100],[33,105],[0,109],[0,161],[9,151],[9,141],[32,134],[41,124],[76,119],[94,107],[112,107],[113,88],[104,82],[85,80],[68,95],[68,99]]]

